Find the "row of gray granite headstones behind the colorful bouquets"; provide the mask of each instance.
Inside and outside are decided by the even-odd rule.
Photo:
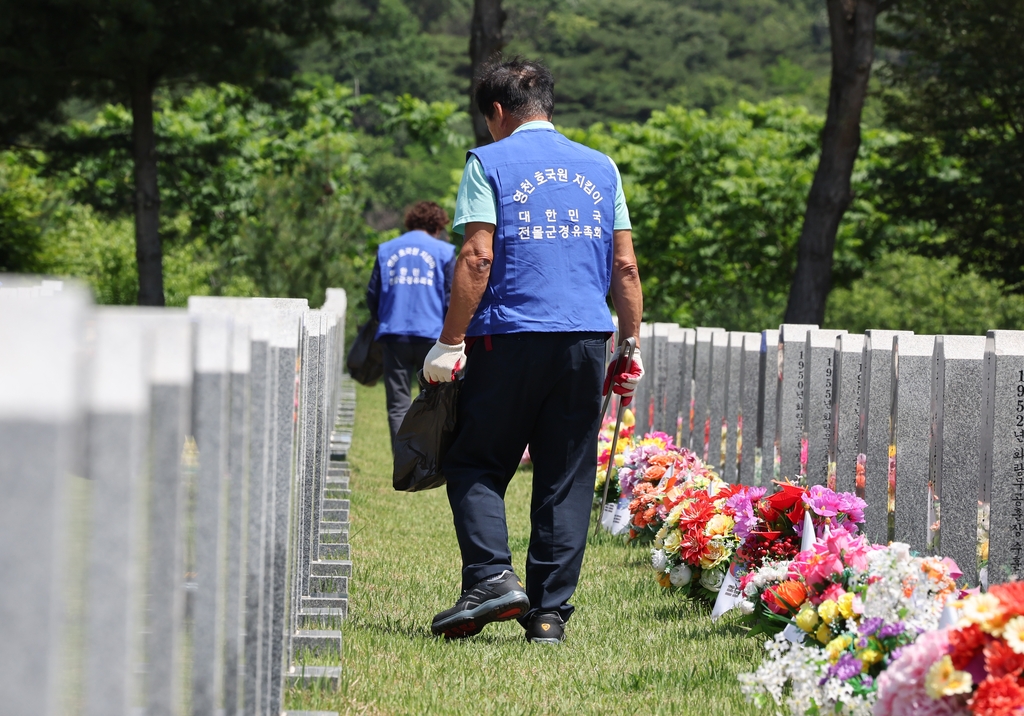
[[[872,542],[952,557],[972,584],[1024,573],[1024,331],[644,324],[641,345],[638,434],[726,481],[853,492]]]

